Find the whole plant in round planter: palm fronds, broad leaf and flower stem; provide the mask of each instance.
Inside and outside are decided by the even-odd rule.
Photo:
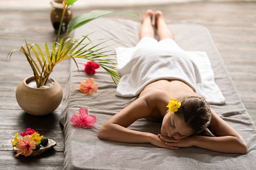
[[[104,50],[104,48],[106,47],[99,47],[99,45],[104,44],[110,39],[101,39],[101,43],[93,45],[93,41],[91,41],[88,37],[90,34],[86,36],[80,36],[79,38],[68,38],[68,35],[76,28],[102,16],[111,14],[121,14],[130,17],[137,17],[138,15],[134,13],[118,13],[113,11],[95,10],[90,13],[77,16],[69,22],[67,26],[67,35],[61,38],[61,40],[58,42],[64,14],[68,6],[72,5],[76,1],[77,0],[63,0],[62,18],[60,21],[56,41],[52,45],[51,54],[47,43],[44,43],[43,45],[46,51],[46,55],[44,55],[42,49],[39,47],[38,44],[31,45],[27,42],[22,45],[21,49],[13,50],[8,54],[8,57],[10,56],[10,58],[12,54],[17,50],[25,54],[33,70],[35,81],[37,83],[38,88],[46,84],[46,81],[48,80],[50,73],[53,71],[53,68],[59,62],[70,58],[75,62],[75,64],[75,58],[83,58],[99,64],[102,68],[104,68],[107,71],[107,73],[110,74],[116,85],[119,83],[119,74],[115,72],[116,63],[114,62],[114,60],[106,59],[106,57],[114,54],[107,54],[109,51],[102,52],[102,50]],[[84,40],[88,40],[88,43],[84,43]],[[35,57],[33,57],[33,55]]]

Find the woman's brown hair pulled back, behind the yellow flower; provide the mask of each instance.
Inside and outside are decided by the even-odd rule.
[[[187,126],[194,130],[194,135],[204,132],[211,121],[211,109],[204,97],[182,98],[181,107],[174,113],[184,119]]]

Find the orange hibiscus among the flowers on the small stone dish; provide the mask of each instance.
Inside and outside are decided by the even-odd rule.
[[[30,135],[26,135],[18,140],[16,147],[19,150],[15,157],[18,157],[20,154],[28,156],[32,153],[33,149],[36,148],[36,142],[35,140],[31,140]]]

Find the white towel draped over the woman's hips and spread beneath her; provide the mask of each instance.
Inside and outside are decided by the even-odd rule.
[[[206,52],[184,51],[172,39],[145,37],[136,47],[119,47],[116,53],[122,76],[117,96],[137,96],[151,82],[168,79],[187,83],[210,104],[225,103]]]

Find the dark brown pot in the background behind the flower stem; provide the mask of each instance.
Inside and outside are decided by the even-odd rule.
[[[52,6],[51,22],[55,32],[57,33],[59,30],[59,24],[62,16],[62,11],[63,11],[62,1],[55,0],[55,1],[51,1],[50,4]],[[72,10],[70,9],[71,7],[72,5],[70,5],[66,10],[60,33],[65,33],[67,31],[67,25],[73,16]]]

